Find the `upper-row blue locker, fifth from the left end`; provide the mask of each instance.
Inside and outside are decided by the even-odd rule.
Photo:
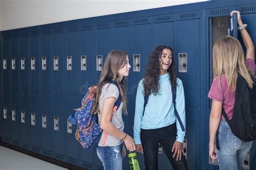
[[[41,37],[41,92],[51,93],[52,79],[52,56],[51,56],[51,46],[52,46],[52,36],[43,35]],[[38,67],[39,68],[39,67]]]

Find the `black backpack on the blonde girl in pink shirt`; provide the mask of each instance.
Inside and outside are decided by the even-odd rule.
[[[222,111],[232,133],[242,141],[256,139],[256,80],[253,75],[251,77],[254,82],[252,89],[238,74],[232,119],[228,119],[224,109]]]

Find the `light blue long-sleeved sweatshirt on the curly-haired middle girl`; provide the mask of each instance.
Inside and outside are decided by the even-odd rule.
[[[174,105],[172,101],[172,89],[169,79],[169,73],[159,76],[159,95],[151,94],[145,107],[144,116],[144,87],[143,80],[140,80],[136,95],[136,107],[134,115],[133,137],[135,144],[141,144],[140,129],[158,129],[171,125],[176,122],[177,126],[177,141],[183,143],[185,131],[181,130],[178,119],[174,114]],[[185,117],[185,98],[183,84],[177,78],[176,92],[176,109],[186,128]]]

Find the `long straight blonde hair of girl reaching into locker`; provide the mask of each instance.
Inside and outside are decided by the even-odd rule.
[[[213,76],[225,74],[227,85],[235,91],[237,86],[238,73],[244,77],[248,86],[252,88],[253,81],[250,75],[250,68],[245,63],[244,51],[240,42],[231,36],[218,39],[213,46]]]

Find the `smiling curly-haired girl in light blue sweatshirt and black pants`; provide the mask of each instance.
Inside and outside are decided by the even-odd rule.
[[[172,87],[177,88],[175,101],[181,122],[174,114]],[[145,95],[149,98],[144,109]],[[176,77],[172,48],[158,46],[150,55],[144,79],[139,82],[134,115],[136,150],[144,154],[146,169],[158,169],[159,143],[173,169],[187,169],[183,150],[185,121],[183,84]]]

